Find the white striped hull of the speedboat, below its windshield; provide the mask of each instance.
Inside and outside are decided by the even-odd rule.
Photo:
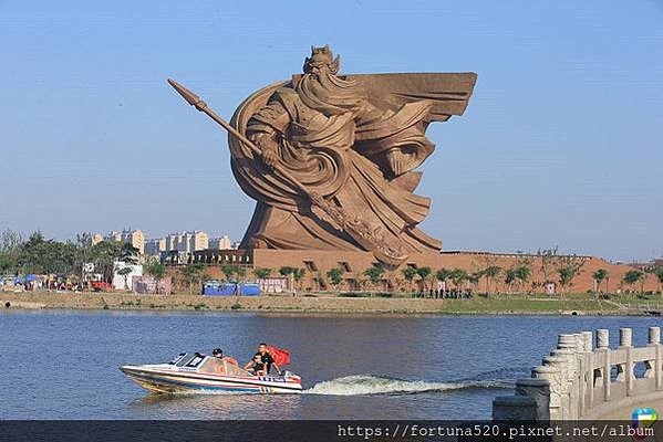
[[[144,389],[156,393],[300,393],[299,377],[224,376],[178,371],[159,366],[122,366],[120,370]]]

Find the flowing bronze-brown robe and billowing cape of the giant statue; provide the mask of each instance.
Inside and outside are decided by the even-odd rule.
[[[476,75],[335,78],[338,93],[329,97],[311,93],[299,76],[268,86],[240,105],[231,124],[250,138],[272,137],[280,164],[309,192],[361,218],[385,242],[407,253],[438,251],[442,243],[416,227],[431,201],[414,193],[421,173],[413,170],[435,147],[425,137],[428,123],[462,114]],[[258,201],[241,248],[363,250],[248,146],[234,137],[229,144],[232,171]],[[393,149],[403,152],[400,175],[387,159]]]

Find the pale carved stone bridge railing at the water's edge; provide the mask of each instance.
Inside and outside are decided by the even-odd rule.
[[[599,329],[593,348],[591,332],[559,335],[557,348],[531,378],[516,382],[515,396],[495,398],[493,419],[599,419],[663,399],[661,328],[650,327],[644,347],[633,347],[632,337],[631,328],[621,328],[619,347],[610,348],[609,332]]]

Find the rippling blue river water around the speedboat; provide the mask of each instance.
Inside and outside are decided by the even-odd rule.
[[[263,316],[3,311],[0,419],[489,419],[495,396],[557,335],[651,317]],[[221,347],[241,362],[266,340],[292,352],[304,394],[151,394],[117,369]]]

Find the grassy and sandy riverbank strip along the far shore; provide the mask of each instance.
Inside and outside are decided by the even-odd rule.
[[[134,295],[123,293],[13,293],[0,292],[8,308],[145,309],[199,312],[256,312],[302,314],[566,314],[624,315],[621,298],[597,299],[590,295],[541,298],[511,295],[469,299],[422,299],[384,297],[341,297],[331,295],[235,297],[200,295]],[[7,307],[9,303],[9,307]],[[621,306],[620,306],[621,304]]]

